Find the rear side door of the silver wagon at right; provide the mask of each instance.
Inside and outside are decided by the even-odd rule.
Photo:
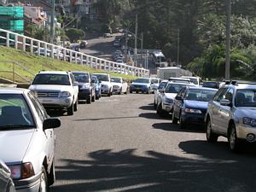
[[[209,111],[211,112],[212,117],[212,129],[219,132],[219,114],[218,111],[220,109],[220,100],[224,98],[225,93],[227,92],[228,88],[221,88],[218,90],[217,94],[213,97],[213,101],[209,106]]]

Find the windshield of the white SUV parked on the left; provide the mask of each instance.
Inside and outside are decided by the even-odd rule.
[[[70,85],[67,74],[37,74],[32,84]]]

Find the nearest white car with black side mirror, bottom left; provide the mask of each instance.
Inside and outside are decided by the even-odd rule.
[[[60,119],[49,118],[31,90],[0,90],[0,159],[15,189],[49,191],[55,182],[55,133]]]

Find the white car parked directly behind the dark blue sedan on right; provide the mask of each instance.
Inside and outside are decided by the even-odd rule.
[[[160,95],[157,98],[156,112],[160,117],[166,117],[168,113],[172,113],[174,98],[177,92],[185,86],[195,86],[195,84],[169,81],[165,89],[159,90]]]

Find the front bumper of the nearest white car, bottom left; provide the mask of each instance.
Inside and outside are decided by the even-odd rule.
[[[15,189],[17,192],[38,192],[40,186],[41,173],[33,177],[14,180]]]

